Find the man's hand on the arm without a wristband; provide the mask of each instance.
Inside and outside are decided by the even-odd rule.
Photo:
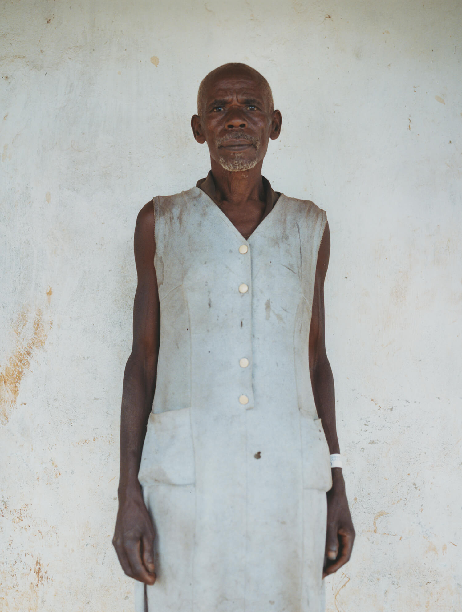
[[[119,494],[113,545],[127,576],[146,584],[155,582],[154,537],[141,486],[135,485]]]

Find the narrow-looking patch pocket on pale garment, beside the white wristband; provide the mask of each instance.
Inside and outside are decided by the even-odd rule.
[[[329,491],[332,487],[330,453],[321,419],[311,419],[300,411],[304,489]]]

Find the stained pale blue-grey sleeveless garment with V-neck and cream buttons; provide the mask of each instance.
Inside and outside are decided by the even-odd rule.
[[[308,338],[326,213],[281,194],[245,240],[198,187],[154,211],[160,352],[139,480],[157,580],[136,583],[136,610],[319,612],[332,480]]]

